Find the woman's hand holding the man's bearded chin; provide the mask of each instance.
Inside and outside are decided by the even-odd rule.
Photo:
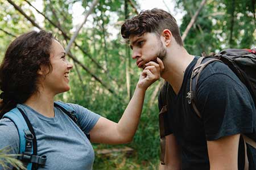
[[[164,70],[163,61],[160,58],[156,58],[156,62],[150,61],[145,64],[145,68],[139,77],[137,86],[139,88],[147,89],[152,83],[160,78],[160,74]]]

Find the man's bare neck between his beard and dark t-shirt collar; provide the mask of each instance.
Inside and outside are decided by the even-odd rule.
[[[162,78],[169,82],[178,94],[183,82],[184,73],[194,56],[190,55],[183,47],[168,49],[164,59],[164,73]]]

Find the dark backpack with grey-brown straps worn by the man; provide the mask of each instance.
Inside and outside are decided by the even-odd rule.
[[[238,76],[243,84],[249,90],[251,97],[253,98],[254,105],[256,106],[256,51],[255,49],[226,49],[222,50],[220,53],[200,57],[197,60],[195,67],[193,68],[190,87],[188,92],[188,103],[192,105],[192,108],[196,112],[197,116],[201,117],[199,110],[196,108],[196,85],[199,79],[201,71],[212,62],[223,62],[229,66],[229,68]],[[166,95],[167,100],[167,89],[162,88],[162,96]],[[162,99],[164,100],[164,99]],[[168,100],[167,100],[168,101]],[[165,154],[165,141],[164,141],[164,116],[161,114],[167,112],[168,102],[165,103],[164,107],[159,113],[159,129],[160,129],[160,162],[164,164],[164,154]],[[247,158],[246,143],[256,148],[256,142],[246,137],[246,135],[241,134],[244,146],[245,146],[245,169],[249,168],[249,162]],[[164,142],[162,142],[164,141]]]

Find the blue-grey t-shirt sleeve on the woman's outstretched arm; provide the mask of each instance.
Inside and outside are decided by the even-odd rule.
[[[69,103],[69,105],[75,109],[82,131],[89,133],[101,116],[90,111],[89,109],[82,107],[81,105],[71,103]]]

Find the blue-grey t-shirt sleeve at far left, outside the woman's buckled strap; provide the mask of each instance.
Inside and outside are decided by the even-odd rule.
[[[0,120],[0,150],[5,148],[7,154],[19,153],[19,134],[14,123],[8,118]]]

